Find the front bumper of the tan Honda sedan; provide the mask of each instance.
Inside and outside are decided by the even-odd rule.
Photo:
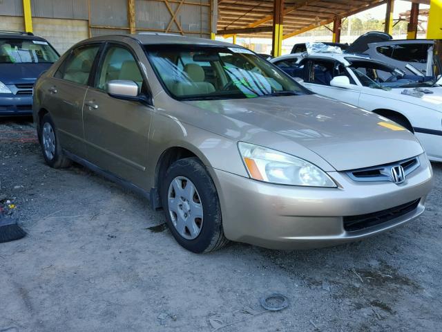
[[[338,188],[293,187],[253,181],[211,169],[218,188],[227,239],[272,249],[334,246],[390,230],[416,219],[432,188],[432,169],[424,155],[405,183],[352,181],[329,172]],[[420,200],[412,211],[361,230],[346,231],[344,216],[372,214]]]

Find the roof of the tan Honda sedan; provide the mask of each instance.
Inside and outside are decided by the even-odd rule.
[[[198,37],[187,37],[182,35],[173,35],[169,33],[137,33],[135,35],[105,35],[99,37],[93,37],[86,39],[85,42],[94,40],[120,40],[124,41],[126,38],[137,39],[138,42],[144,45],[157,45],[157,44],[182,44],[182,45],[200,45],[200,46],[224,46],[224,47],[236,47],[243,48],[242,46],[220,42],[218,40],[198,38]]]

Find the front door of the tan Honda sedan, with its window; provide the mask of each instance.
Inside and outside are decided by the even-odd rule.
[[[153,107],[106,93],[111,80],[131,80],[148,94],[135,53],[124,44],[108,44],[94,84],[84,100],[84,136],[88,160],[126,181],[145,187],[148,131]]]

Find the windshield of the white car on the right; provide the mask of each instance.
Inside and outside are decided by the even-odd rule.
[[[398,89],[432,86],[433,77],[413,75],[376,62],[354,61],[349,67],[363,86],[375,89]]]

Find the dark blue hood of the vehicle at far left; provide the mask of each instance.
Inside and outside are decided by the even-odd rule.
[[[52,64],[0,64],[0,82],[3,84],[34,83]]]

